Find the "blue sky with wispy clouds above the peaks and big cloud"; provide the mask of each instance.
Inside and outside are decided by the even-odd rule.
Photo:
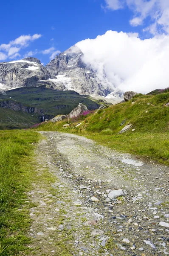
[[[169,3],[165,2],[17,0],[9,4],[3,1],[0,9],[0,61],[32,55],[47,64],[52,54],[54,57],[59,51],[86,38],[103,35],[107,30],[137,32],[141,39],[155,36],[159,33],[159,26],[160,32],[168,33],[169,12],[164,14],[164,9]],[[29,36],[20,38],[21,35]],[[17,38],[20,40],[16,41]]]

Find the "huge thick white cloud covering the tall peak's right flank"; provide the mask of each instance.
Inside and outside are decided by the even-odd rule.
[[[101,78],[112,87],[148,93],[168,87],[169,35],[141,40],[136,34],[107,31],[76,44]]]

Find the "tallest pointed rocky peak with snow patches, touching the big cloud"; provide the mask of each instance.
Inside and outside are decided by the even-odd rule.
[[[113,91],[106,81],[101,83],[89,64],[83,62],[83,52],[76,46],[57,55],[45,67],[58,90],[75,90],[91,96],[106,96]]]

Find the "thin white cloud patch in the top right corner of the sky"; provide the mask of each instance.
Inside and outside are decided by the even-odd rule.
[[[168,0],[104,0],[107,9],[117,10],[128,6],[133,12],[130,20],[132,26],[143,25],[150,17],[150,24],[146,27],[153,35],[169,33],[169,1]]]

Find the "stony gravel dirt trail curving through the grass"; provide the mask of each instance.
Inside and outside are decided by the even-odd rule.
[[[77,135],[41,134],[47,140],[37,148],[39,180],[29,195],[35,255],[169,254],[168,167]],[[113,189],[125,195],[110,199]]]

